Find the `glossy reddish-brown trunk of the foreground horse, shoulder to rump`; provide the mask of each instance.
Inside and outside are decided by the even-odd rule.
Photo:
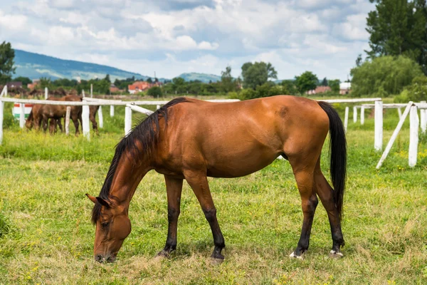
[[[282,95],[233,103],[188,99],[168,112],[160,148],[172,165],[238,177],[320,140],[321,148],[328,128],[325,112],[306,98]]]

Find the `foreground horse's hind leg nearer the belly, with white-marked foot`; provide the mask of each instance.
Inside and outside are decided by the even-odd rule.
[[[314,165],[307,165],[302,158],[291,158],[290,165],[297,181],[301,195],[301,206],[304,219],[302,222],[300,241],[290,257],[302,259],[302,254],[307,251],[310,244],[310,232],[317,207],[317,196],[314,190]]]

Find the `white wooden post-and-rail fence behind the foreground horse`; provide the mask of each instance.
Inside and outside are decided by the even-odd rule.
[[[3,140],[3,118],[4,118],[4,102],[12,102],[12,103],[20,103],[21,106],[25,103],[30,104],[44,104],[44,105],[67,105],[67,106],[82,106],[82,131],[85,138],[90,140],[90,120],[89,120],[89,106],[90,105],[99,105],[100,108],[98,110],[98,120],[99,127],[103,127],[103,116],[102,116],[102,106],[110,105],[110,116],[114,116],[115,114],[115,106],[123,105],[125,106],[125,135],[130,133],[132,129],[132,111],[144,113],[146,115],[151,115],[152,110],[148,110],[140,107],[139,105],[157,105],[157,109],[160,108],[160,105],[164,105],[168,103],[167,100],[137,100],[137,101],[122,101],[122,100],[104,100],[104,99],[96,99],[84,97],[82,102],[75,101],[53,101],[53,100],[33,100],[33,99],[16,99],[16,98],[6,98],[7,95],[7,86],[1,91],[0,94],[0,145]],[[84,91],[83,91],[84,95]],[[48,96],[48,90],[45,90],[45,98]],[[92,90],[91,90],[92,97]],[[211,102],[236,102],[238,100],[209,100]],[[427,103],[412,103],[408,104],[383,104],[381,98],[357,98],[357,99],[333,99],[333,100],[323,100],[328,103],[369,103],[374,102],[374,104],[362,104],[360,106],[354,106],[353,108],[353,120],[357,122],[357,108],[361,109],[361,123],[364,123],[364,110],[369,108],[375,108],[375,140],[374,147],[376,150],[382,149],[382,140],[383,140],[383,110],[384,108],[404,108],[406,107],[403,115],[400,116],[399,124],[394,131],[394,134],[391,136],[391,139],[384,150],[384,153],[379,161],[377,168],[381,167],[381,164],[386,159],[391,146],[393,145],[394,140],[396,140],[397,134],[401,129],[401,126],[404,123],[404,120],[408,113],[411,113],[411,137],[410,137],[410,147],[409,147],[409,157],[408,162],[411,167],[416,165],[416,155],[418,152],[418,125],[420,125],[420,120],[418,120],[418,109],[421,110],[421,130],[426,132],[427,126]],[[67,118],[65,119],[65,130],[68,133],[68,125],[69,125],[69,108],[67,108]],[[401,113],[401,112],[400,112]],[[349,107],[345,108],[344,115],[344,128],[347,131],[348,118],[349,117]],[[25,125],[23,108],[21,107],[21,115],[20,115],[20,126],[23,128]]]

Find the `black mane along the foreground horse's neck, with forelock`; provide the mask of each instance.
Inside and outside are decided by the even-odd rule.
[[[167,123],[167,109],[176,105],[178,103],[185,102],[186,98],[175,98],[174,100],[169,101],[166,105],[163,105],[159,110],[156,110],[152,115],[149,115],[145,120],[143,120],[139,125],[132,129],[132,131],[122,138],[120,142],[116,145],[115,155],[112,157],[112,162],[110,169],[107,172],[107,177],[105,177],[104,185],[102,185],[101,192],[99,197],[109,201],[110,188],[112,183],[112,178],[114,177],[117,165],[120,161],[120,157],[125,151],[130,152],[132,156],[141,155],[139,153],[139,148],[137,142],[142,145],[144,150],[144,155],[148,157],[152,155],[152,151],[157,143],[158,130],[159,130],[159,120],[164,118],[165,123]],[[155,128],[154,128],[155,125]],[[99,202],[95,203],[95,206],[92,210],[92,222],[96,224],[97,219],[99,219],[101,214],[101,204]]]

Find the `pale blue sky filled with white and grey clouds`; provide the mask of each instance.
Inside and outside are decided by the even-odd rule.
[[[268,61],[278,78],[347,79],[367,49],[369,0],[0,0],[14,48],[173,78],[239,76]]]

